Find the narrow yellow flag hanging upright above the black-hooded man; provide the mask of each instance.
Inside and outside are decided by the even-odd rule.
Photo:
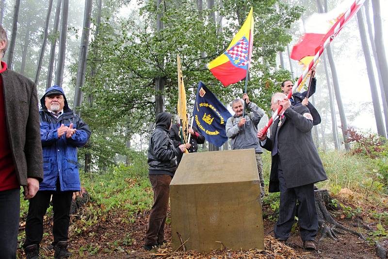
[[[187,142],[188,128],[189,128],[189,120],[187,118],[187,105],[186,105],[186,89],[183,83],[183,75],[182,68],[180,65],[180,58],[177,56],[177,64],[178,64],[178,116],[180,118],[183,131],[183,142]]]

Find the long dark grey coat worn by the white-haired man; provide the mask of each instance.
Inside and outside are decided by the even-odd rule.
[[[307,113],[307,114],[305,114]],[[284,112],[284,118],[277,133],[280,162],[287,188],[294,188],[326,180],[318,151],[314,146],[311,129],[312,120],[307,119],[309,111],[305,106],[291,106]],[[266,139],[265,149],[272,151],[273,140],[278,127],[276,119],[271,127],[272,135]],[[260,142],[261,145],[261,142]],[[272,158],[269,192],[279,192],[277,159]]]

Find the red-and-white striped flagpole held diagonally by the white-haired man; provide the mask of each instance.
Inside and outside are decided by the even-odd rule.
[[[361,5],[362,3],[364,2],[364,0],[355,0],[352,5],[350,6],[350,8],[346,11],[346,13],[341,16],[340,18],[340,21],[337,25],[335,25],[336,27],[334,28],[334,33],[333,35],[331,35],[330,37],[328,37],[326,39],[326,41],[324,42],[323,46],[315,53],[314,55],[314,59],[310,62],[310,64],[308,64],[308,66],[306,67],[305,71],[303,71],[302,75],[299,77],[297,83],[292,87],[292,90],[288,93],[287,95],[287,98],[291,98],[292,96],[292,93],[296,90],[296,88],[298,88],[298,86],[300,85],[300,83],[303,81],[303,79],[307,76],[308,72],[310,71],[311,67],[314,65],[314,63],[319,59],[319,57],[322,55],[323,53],[323,50],[327,48],[327,46],[330,45],[330,43],[333,41],[333,39],[337,36],[339,30],[344,26],[344,23],[345,23],[345,20],[348,18],[348,16],[351,14],[351,12],[357,7],[357,5]],[[358,10],[357,10],[358,12]],[[356,13],[355,13],[356,14]],[[334,26],[333,26],[334,27]],[[332,27],[332,28],[333,28]],[[329,30],[330,31],[330,30]],[[269,119],[267,125],[261,129],[261,132],[263,133],[263,135],[265,133],[267,133],[267,130],[268,128],[271,126],[271,124],[274,122],[274,120],[276,119],[276,117],[278,116],[278,114],[280,113],[280,111],[283,109],[282,106],[279,106],[279,108],[274,112],[274,114],[272,115],[272,117]]]

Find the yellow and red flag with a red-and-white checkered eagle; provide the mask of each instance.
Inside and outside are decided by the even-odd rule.
[[[238,82],[246,77],[251,63],[253,47],[253,8],[239,32],[236,33],[226,51],[208,64],[210,72],[224,86]]]

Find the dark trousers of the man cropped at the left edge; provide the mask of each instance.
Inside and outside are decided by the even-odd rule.
[[[16,259],[20,189],[0,192],[0,259]]]

